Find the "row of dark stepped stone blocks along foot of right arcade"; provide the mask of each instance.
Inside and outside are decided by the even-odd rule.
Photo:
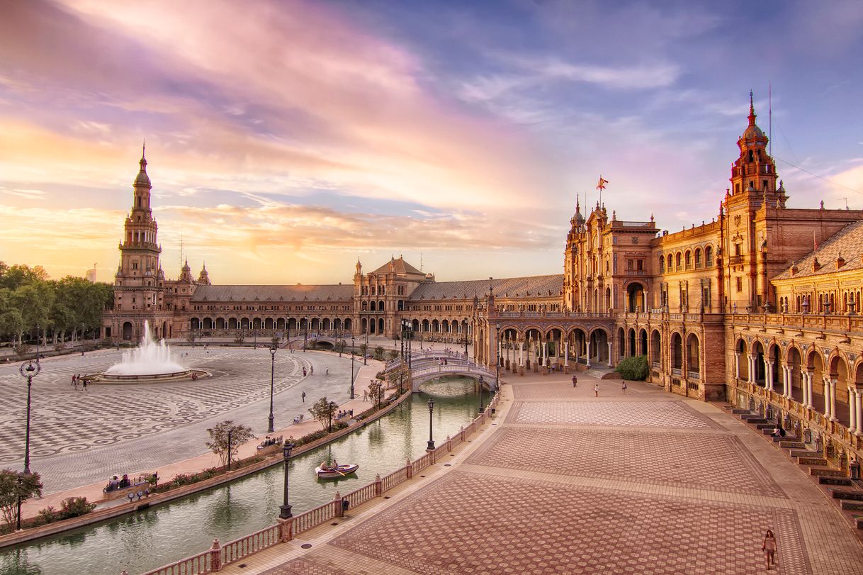
[[[788,454],[791,460],[803,465],[817,484],[826,490],[828,496],[839,504],[842,515],[845,515],[855,528],[860,529],[863,538],[863,482],[851,479],[844,471],[830,467],[822,452],[809,450],[799,438],[786,434],[785,437],[773,437],[775,423],[763,418],[760,414],[748,409],[724,406],[725,411],[740,417],[755,430],[765,435],[765,439],[778,444],[779,449]]]

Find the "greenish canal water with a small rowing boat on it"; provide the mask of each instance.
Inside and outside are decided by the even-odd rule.
[[[361,431],[291,460],[294,515],[331,501],[403,466],[425,452],[428,400],[435,401],[437,445],[476,417],[475,383],[451,378],[423,386],[399,408]],[[327,456],[360,465],[356,475],[318,480],[315,467]],[[111,521],[75,529],[20,547],[0,550],[2,575],[130,575],[200,553],[212,540],[230,541],[276,522],[282,499],[283,465],[213,490]]]

